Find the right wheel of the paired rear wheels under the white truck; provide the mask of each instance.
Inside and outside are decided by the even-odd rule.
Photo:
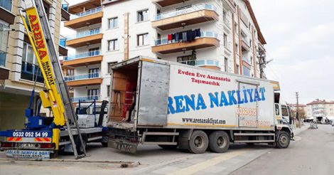
[[[211,152],[226,152],[230,147],[230,137],[223,131],[212,132],[209,136],[209,147]]]

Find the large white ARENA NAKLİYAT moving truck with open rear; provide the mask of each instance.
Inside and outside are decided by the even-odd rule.
[[[230,143],[286,148],[293,139],[278,82],[143,57],[111,72],[109,147],[135,153],[138,144],[156,144],[203,153],[225,152]]]

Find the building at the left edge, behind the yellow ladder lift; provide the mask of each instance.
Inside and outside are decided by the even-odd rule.
[[[65,45],[60,45],[63,42],[60,21],[69,20],[68,4],[61,0],[43,0],[43,5],[59,55],[67,55]],[[21,0],[0,0],[0,130],[22,128],[33,80],[37,80],[36,95],[44,86],[36,56],[18,16],[19,10],[25,7]]]

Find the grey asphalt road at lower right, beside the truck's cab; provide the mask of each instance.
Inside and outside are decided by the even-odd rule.
[[[289,149],[271,149],[231,175],[334,174],[334,127],[318,124],[300,137]]]

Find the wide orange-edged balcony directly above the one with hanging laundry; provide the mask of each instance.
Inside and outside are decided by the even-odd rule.
[[[211,4],[197,4],[183,9],[167,11],[154,17],[152,26],[161,30],[189,26],[195,23],[217,21],[218,14]]]

